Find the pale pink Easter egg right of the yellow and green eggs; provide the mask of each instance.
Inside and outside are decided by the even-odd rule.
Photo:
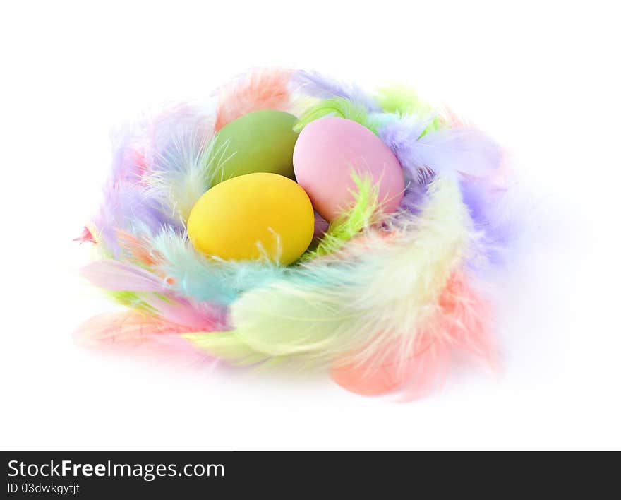
[[[397,210],[405,189],[402,168],[378,136],[337,117],[311,121],[302,129],[294,149],[296,180],[325,220],[334,220],[354,203],[352,169],[378,185],[385,213]]]

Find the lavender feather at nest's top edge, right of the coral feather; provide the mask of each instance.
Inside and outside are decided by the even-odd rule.
[[[291,76],[291,83],[299,92],[320,99],[346,100],[356,106],[362,107],[367,112],[378,112],[380,107],[375,97],[368,95],[357,85],[339,82],[333,78],[327,78],[315,71],[295,71]]]

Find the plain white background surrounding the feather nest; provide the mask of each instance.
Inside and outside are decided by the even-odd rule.
[[[621,82],[613,2],[20,2],[0,14],[2,448],[620,448]],[[414,403],[322,377],[78,349],[109,308],[71,240],[109,130],[251,66],[399,79],[515,157],[527,251],[501,283],[497,379]]]

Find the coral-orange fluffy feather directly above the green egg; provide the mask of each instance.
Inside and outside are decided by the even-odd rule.
[[[289,78],[289,70],[255,69],[220,88],[215,130],[259,109],[287,111],[291,106]]]

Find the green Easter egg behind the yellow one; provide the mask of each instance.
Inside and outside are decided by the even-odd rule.
[[[234,119],[218,131],[211,145],[207,171],[210,184],[255,172],[271,172],[295,179],[293,131],[296,117],[275,109],[261,109]]]

